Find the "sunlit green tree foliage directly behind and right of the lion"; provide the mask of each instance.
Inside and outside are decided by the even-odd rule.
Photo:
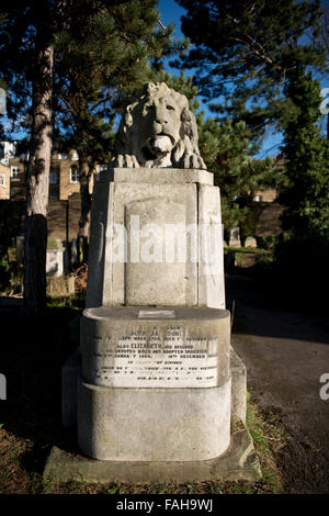
[[[184,94],[195,113],[200,108],[197,87],[192,77],[160,74],[170,88]],[[204,112],[195,114],[198,131],[198,148],[214,173],[215,184],[220,188],[223,222],[227,228],[243,224],[253,210],[253,197],[266,187],[282,188],[285,184],[283,169],[274,167],[271,158],[254,159],[259,146],[243,121],[219,123],[204,119]]]

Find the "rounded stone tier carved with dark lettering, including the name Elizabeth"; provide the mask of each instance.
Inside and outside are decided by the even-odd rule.
[[[170,317],[168,310],[161,316],[163,310],[146,313],[138,306],[84,310],[82,378],[113,388],[212,388],[226,383],[230,375],[229,312],[170,309]]]

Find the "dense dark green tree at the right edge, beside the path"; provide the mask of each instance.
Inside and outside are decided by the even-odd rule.
[[[286,86],[291,102],[283,152],[290,186],[284,227],[296,237],[329,236],[329,144],[320,135],[320,87],[311,72],[297,70]]]

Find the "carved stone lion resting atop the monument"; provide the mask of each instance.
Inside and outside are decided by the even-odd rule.
[[[116,137],[116,167],[206,169],[186,97],[164,82],[147,82],[123,114]]]

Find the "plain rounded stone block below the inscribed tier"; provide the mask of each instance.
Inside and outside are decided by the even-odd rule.
[[[124,389],[79,383],[78,441],[94,459],[193,461],[230,438],[230,380],[209,389]]]

